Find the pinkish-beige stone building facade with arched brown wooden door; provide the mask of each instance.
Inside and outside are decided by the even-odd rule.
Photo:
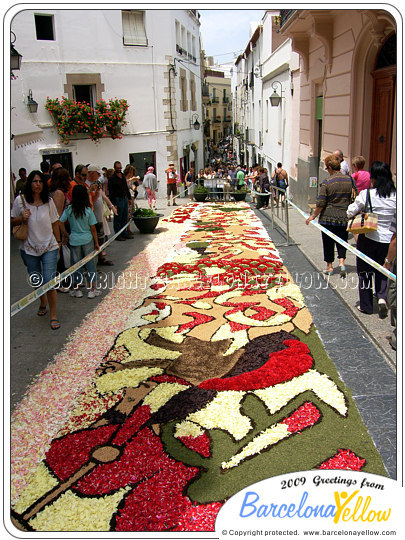
[[[281,10],[280,31],[300,56],[297,177],[301,208],[313,204],[336,149],[397,170],[396,19],[384,9]]]

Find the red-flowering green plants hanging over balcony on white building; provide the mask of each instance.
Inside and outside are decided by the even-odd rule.
[[[62,97],[47,97],[45,108],[50,112],[60,142],[68,144],[77,133],[87,133],[92,141],[98,141],[110,135],[112,139],[122,138],[122,127],[126,125],[125,115],[128,110],[126,99],[103,99],[92,107],[85,101],[75,101]]]

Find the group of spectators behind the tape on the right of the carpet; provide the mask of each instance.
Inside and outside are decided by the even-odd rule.
[[[347,242],[349,219],[360,213],[374,214],[378,218],[376,230],[355,235],[356,248],[380,266],[396,271],[396,188],[389,165],[374,161],[370,171],[366,171],[364,157],[355,156],[351,174],[341,150],[327,156],[324,163],[329,177],[320,186],[316,207],[306,220],[307,225],[318,218],[318,223],[324,229]],[[346,248],[323,231],[322,245],[325,275],[331,276],[334,272],[336,246],[339,272],[345,277]],[[373,292],[381,319],[388,316],[391,308],[391,322],[395,328],[390,343],[396,349],[396,282],[390,280],[388,284],[389,278],[361,257],[356,257],[356,270],[359,293],[357,309],[364,314],[374,312]]]

